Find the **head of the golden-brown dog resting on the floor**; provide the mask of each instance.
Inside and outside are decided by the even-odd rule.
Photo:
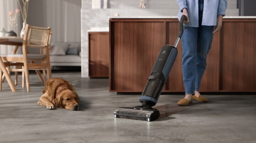
[[[56,96],[55,106],[69,110],[78,110],[79,102],[79,96],[75,91],[64,90]]]

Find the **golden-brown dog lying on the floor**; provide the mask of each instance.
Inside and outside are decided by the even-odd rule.
[[[75,88],[62,78],[52,78],[44,84],[43,95],[37,104],[52,110],[54,107],[69,110],[79,109],[79,96]]]

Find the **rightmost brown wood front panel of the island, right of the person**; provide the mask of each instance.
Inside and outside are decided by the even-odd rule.
[[[222,26],[220,90],[256,91],[256,21]]]

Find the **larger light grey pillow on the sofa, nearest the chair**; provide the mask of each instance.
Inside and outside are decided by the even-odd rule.
[[[69,44],[56,44],[49,47],[50,55],[66,55]]]

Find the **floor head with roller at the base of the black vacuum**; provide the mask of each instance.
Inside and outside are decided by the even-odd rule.
[[[158,119],[160,113],[151,107],[121,107],[114,112],[115,118],[126,118],[134,120],[153,121]]]

